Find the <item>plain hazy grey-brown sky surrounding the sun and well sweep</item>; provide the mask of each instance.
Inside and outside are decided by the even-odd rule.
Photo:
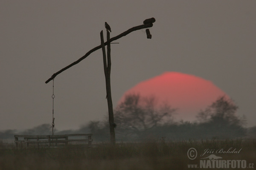
[[[256,125],[255,0],[8,0],[0,3],[0,130],[52,122],[52,81],[61,68],[154,17],[150,29],[111,46],[113,105],[129,88],[166,71],[212,81]],[[55,125],[76,129],[108,111],[102,51],[55,78]]]

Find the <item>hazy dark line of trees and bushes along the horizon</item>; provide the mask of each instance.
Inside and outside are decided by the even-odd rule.
[[[116,141],[143,141],[148,139],[236,139],[256,138],[256,126],[245,128],[246,120],[236,112],[238,106],[225,96],[219,97],[197,115],[196,122],[174,122],[176,111],[168,103],[157,105],[153,96],[139,94],[125,96],[114,111]],[[57,131],[55,134],[93,133],[93,141],[109,141],[109,123],[91,121],[79,130]],[[43,124],[23,132],[0,131],[0,139],[12,139],[15,134],[51,135],[51,125]]]

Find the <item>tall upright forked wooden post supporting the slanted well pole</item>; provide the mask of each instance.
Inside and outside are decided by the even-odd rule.
[[[101,38],[101,45],[102,45],[103,65],[104,65],[107,100],[108,100],[108,118],[109,118],[109,127],[110,127],[110,141],[111,141],[111,144],[116,144],[113,104],[112,104],[112,97],[111,97],[111,83],[110,83],[111,82],[110,81],[110,73],[111,73],[110,51],[111,50],[110,50],[110,44],[108,44],[108,46],[107,46],[107,49],[108,49],[108,65],[107,65],[103,31],[100,32],[100,38]],[[107,31],[107,39],[108,40],[110,39],[109,31]]]

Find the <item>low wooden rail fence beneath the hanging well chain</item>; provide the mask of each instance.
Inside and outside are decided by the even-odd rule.
[[[90,146],[92,144],[92,135],[93,134],[70,134],[70,135],[15,135],[15,144],[16,147],[19,145],[25,144],[26,147],[29,146],[29,144],[37,144],[39,147],[39,144],[48,144],[48,146],[51,146],[52,144],[55,144],[57,146],[58,143],[65,143],[66,145],[69,142],[88,142],[88,145]],[[70,139],[70,138],[81,138],[81,137],[88,136],[87,139]],[[70,137],[70,138],[69,138]],[[19,138],[23,138],[23,140],[19,140]]]

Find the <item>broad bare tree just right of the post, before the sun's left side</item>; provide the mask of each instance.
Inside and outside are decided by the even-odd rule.
[[[117,133],[140,135],[157,125],[172,122],[175,110],[166,103],[157,105],[154,96],[129,94],[115,109]]]

